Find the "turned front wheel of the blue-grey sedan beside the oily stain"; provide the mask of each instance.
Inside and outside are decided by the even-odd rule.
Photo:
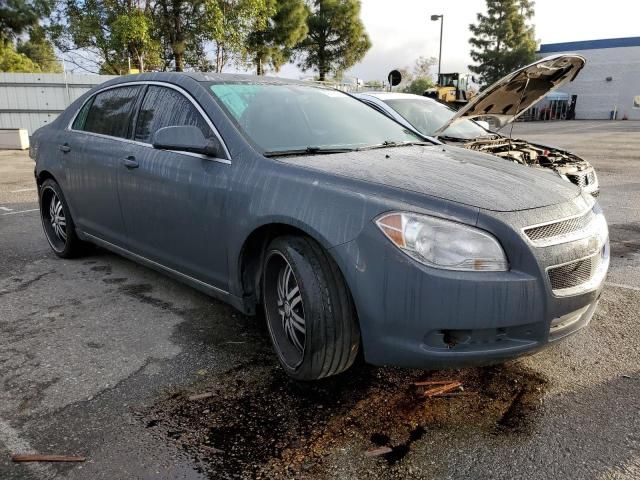
[[[316,380],[353,364],[360,345],[353,301],[337,265],[315,241],[273,240],[262,293],[271,341],[288,375]]]

